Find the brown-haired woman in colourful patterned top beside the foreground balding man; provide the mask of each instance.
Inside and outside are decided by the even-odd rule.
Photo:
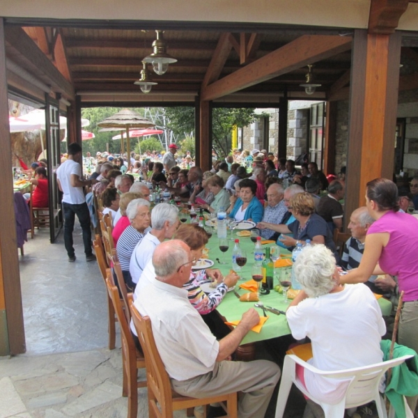
[[[180,225],[173,238],[184,241],[190,247],[194,260],[199,260],[199,258],[201,258],[203,248],[208,243],[209,239],[208,233],[196,224]],[[153,280],[154,277],[155,272],[153,263],[150,261],[146,265],[144,273],[141,276],[141,281],[135,289],[135,295],[148,284],[148,281]],[[214,288],[213,292],[206,295],[206,293],[201,290],[199,282],[208,279],[208,277],[216,280],[217,286]],[[235,272],[223,277],[222,273],[217,269],[206,269],[197,272],[192,271],[190,273],[189,281],[183,285],[183,288],[189,293],[187,297],[189,298],[190,303],[197,311],[199,311],[199,314],[202,315],[203,320],[205,320],[211,332],[217,336],[218,339],[229,334],[230,330],[222,320],[219,320],[219,316],[213,311],[215,311],[219,303],[222,302],[228,288],[235,286],[238,278],[239,276]]]

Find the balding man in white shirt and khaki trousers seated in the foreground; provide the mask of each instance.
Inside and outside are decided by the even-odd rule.
[[[163,242],[153,254],[155,280],[134,302],[139,313],[150,318],[171,386],[178,394],[194,398],[243,392],[238,401],[238,417],[264,417],[280,377],[277,364],[267,360],[222,361],[258,323],[258,313],[249,309],[235,330],[217,341],[182,288],[189,281],[193,263],[185,242]]]

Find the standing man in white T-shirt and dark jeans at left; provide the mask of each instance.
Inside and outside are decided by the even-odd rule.
[[[82,166],[77,162],[82,157],[82,147],[73,143],[68,145],[68,159],[56,170],[58,187],[63,192],[64,213],[64,245],[68,261],[75,261],[75,250],[72,246],[72,231],[75,215],[83,231],[84,253],[86,261],[94,261],[95,255],[91,249],[90,212],[84,196],[83,187],[97,183],[96,180],[82,180]]]

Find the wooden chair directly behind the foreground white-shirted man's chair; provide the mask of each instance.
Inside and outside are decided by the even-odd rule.
[[[123,391],[127,396],[127,418],[137,418],[138,413],[138,388],[146,387],[146,380],[138,380],[138,369],[145,369],[144,354],[135,346],[130,332],[130,324],[123,313],[119,291],[116,288],[110,269],[107,269],[107,292],[114,304],[116,316],[121,325],[122,339],[122,363],[123,363]]]

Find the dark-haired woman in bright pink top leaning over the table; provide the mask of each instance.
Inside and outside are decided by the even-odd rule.
[[[367,183],[366,208],[376,221],[367,231],[359,267],[350,270],[341,281],[364,283],[372,274],[397,276],[399,291],[404,291],[398,343],[417,351],[418,220],[398,212],[398,189],[387,178],[375,178]],[[378,286],[378,279],[375,284]]]

